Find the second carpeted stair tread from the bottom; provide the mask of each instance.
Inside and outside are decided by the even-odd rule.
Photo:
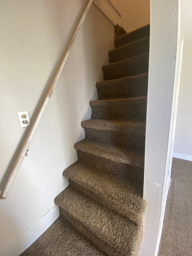
[[[145,201],[135,189],[131,185],[125,185],[121,179],[103,173],[102,170],[90,168],[77,161],[65,169],[63,175],[107,200],[121,205],[127,211],[132,211],[136,215],[144,212]]]

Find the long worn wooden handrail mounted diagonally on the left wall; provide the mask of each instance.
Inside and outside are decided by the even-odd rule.
[[[64,65],[65,65],[66,60],[67,60],[67,58],[69,56],[70,50],[71,50],[71,48],[73,46],[73,43],[74,43],[74,41],[75,41],[75,39],[76,39],[76,37],[77,37],[77,35],[79,33],[79,29],[81,28],[81,26],[82,26],[82,24],[83,24],[83,22],[85,20],[85,17],[86,17],[86,15],[87,15],[87,13],[88,13],[88,11],[89,11],[89,9],[90,9],[90,7],[91,7],[93,2],[94,2],[94,0],[89,0],[88,1],[88,4],[87,4],[87,6],[86,6],[86,8],[85,8],[85,10],[84,10],[80,20],[79,20],[79,23],[77,24],[76,29],[73,32],[73,35],[72,35],[72,37],[71,37],[71,39],[70,39],[70,41],[69,41],[69,43],[67,45],[67,48],[66,48],[66,50],[65,50],[65,52],[64,52],[64,54],[62,56],[62,59],[61,59],[59,65],[58,65],[58,68],[57,68],[57,70],[55,72],[55,75],[54,75],[54,77],[53,77],[53,79],[52,79],[52,81],[51,81],[51,83],[49,85],[49,88],[48,88],[48,90],[46,92],[46,95],[45,95],[45,97],[44,97],[44,99],[43,99],[43,101],[41,103],[41,106],[40,106],[40,108],[39,108],[39,110],[38,110],[38,112],[37,112],[37,114],[35,116],[34,122],[32,123],[32,126],[30,127],[24,142],[22,143],[22,146],[21,146],[21,148],[19,150],[19,153],[18,153],[18,157],[17,157],[17,159],[15,161],[15,164],[14,164],[14,166],[13,166],[13,168],[12,168],[10,174],[9,174],[9,177],[8,177],[8,179],[7,179],[7,181],[6,181],[5,185],[4,185],[3,190],[1,191],[0,199],[6,199],[7,198],[7,195],[9,193],[9,191],[10,191],[10,188],[11,188],[11,186],[13,184],[13,181],[14,181],[14,179],[16,177],[16,174],[17,174],[17,172],[19,170],[19,167],[21,166],[23,158],[24,158],[24,156],[25,156],[25,154],[27,152],[29,144],[32,141],[33,135],[35,134],[35,131],[36,131],[37,126],[38,126],[38,124],[40,122],[40,119],[43,116],[43,113],[44,113],[44,111],[46,109],[46,106],[47,106],[47,104],[49,102],[49,99],[51,98],[51,95],[52,95],[52,93],[53,93],[53,91],[55,89],[56,83],[57,83],[57,81],[58,81],[58,79],[59,79],[59,77],[61,75],[61,72],[62,72],[62,70],[64,68]]]

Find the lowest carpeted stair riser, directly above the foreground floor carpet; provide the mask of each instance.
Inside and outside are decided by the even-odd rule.
[[[104,251],[107,255],[127,256],[127,254],[122,253],[122,251],[119,252],[115,250],[115,248],[110,246],[108,243],[104,242],[104,240],[100,239],[97,235],[95,235],[95,233],[93,233],[87,226],[82,224],[82,222],[74,218],[72,215],[69,214],[69,212],[67,212],[60,206],[59,206],[59,212],[60,212],[60,215],[64,219],[66,219],[73,227],[75,227],[83,236],[85,236],[88,241],[92,242],[95,246],[97,246],[100,250]]]

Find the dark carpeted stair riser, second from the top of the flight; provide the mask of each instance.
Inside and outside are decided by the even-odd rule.
[[[109,63],[117,62],[123,59],[128,59],[133,56],[140,55],[142,53],[149,52],[149,37],[140,39],[131,44],[127,44],[123,47],[116,48],[109,52]]]

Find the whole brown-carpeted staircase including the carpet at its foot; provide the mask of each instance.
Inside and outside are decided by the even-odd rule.
[[[22,256],[137,255],[142,219],[149,25],[115,26],[115,49],[90,101],[78,161],[64,170],[69,186],[56,198],[60,217]],[[55,230],[55,231],[54,231]],[[48,242],[49,241],[49,242]]]

